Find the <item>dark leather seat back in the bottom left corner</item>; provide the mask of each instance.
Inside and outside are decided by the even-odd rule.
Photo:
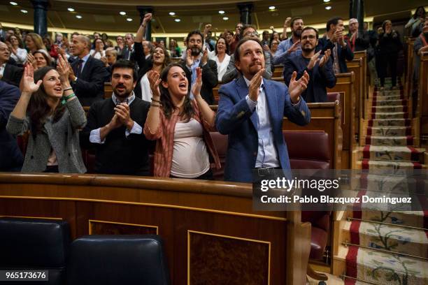
[[[49,271],[47,282],[10,284],[64,284],[69,245],[66,221],[0,218],[0,270]]]

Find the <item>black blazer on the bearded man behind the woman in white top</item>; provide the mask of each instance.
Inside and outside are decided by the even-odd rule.
[[[181,66],[186,73],[187,80],[189,81],[189,90],[192,89],[192,71],[186,66],[186,61],[180,61]],[[212,59],[208,59],[205,66],[202,66],[202,61],[199,64],[199,67],[202,68],[202,88],[201,96],[204,98],[208,105],[213,105],[214,103],[214,94],[213,88],[217,86],[218,83],[218,74],[217,74],[217,64]]]

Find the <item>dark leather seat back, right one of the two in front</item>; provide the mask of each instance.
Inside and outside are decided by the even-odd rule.
[[[170,284],[162,240],[157,235],[78,238],[71,244],[67,284]]]

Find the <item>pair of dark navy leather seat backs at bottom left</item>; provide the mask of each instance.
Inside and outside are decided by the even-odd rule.
[[[0,270],[48,270],[48,282],[23,284],[170,284],[158,235],[87,235],[71,242],[66,221],[10,217],[0,218],[0,233]]]

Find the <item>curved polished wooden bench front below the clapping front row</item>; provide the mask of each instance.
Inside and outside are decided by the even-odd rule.
[[[245,277],[255,274],[261,283],[254,284],[268,284],[267,279],[270,284],[305,284],[306,280],[310,224],[301,224],[299,212],[253,211],[251,184],[0,173],[0,216],[4,215],[59,217],[69,222],[73,238],[89,234],[90,224],[91,233],[103,234],[152,233],[156,229],[164,240],[172,284],[187,284],[187,277],[198,284],[220,284],[213,283],[217,275],[211,276],[224,269],[219,258],[229,258],[230,264],[237,265],[236,282],[228,284],[252,284]],[[197,248],[190,252],[197,260],[187,276],[191,231],[220,239],[193,240]],[[217,255],[212,254],[213,244],[219,249]],[[228,244],[236,250],[227,251]],[[259,258],[262,266],[245,265],[245,256],[250,261]],[[210,268],[197,265],[201,260]]]

